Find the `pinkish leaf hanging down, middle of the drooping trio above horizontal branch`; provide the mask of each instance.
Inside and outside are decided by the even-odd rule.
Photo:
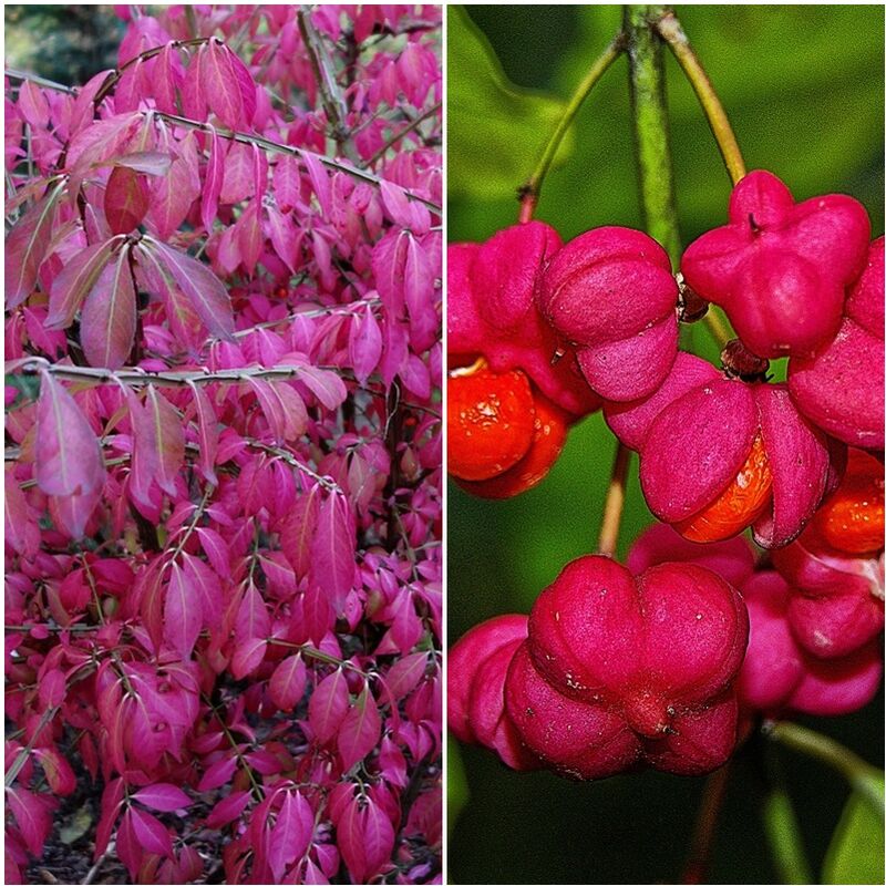
[[[105,267],[86,296],[80,322],[83,353],[92,367],[120,369],[135,339],[135,289],[128,250]]]

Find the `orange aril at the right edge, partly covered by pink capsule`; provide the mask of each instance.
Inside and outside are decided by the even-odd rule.
[[[846,473],[836,492],[818,508],[815,528],[831,547],[845,554],[873,554],[883,547],[883,465],[849,450]]]

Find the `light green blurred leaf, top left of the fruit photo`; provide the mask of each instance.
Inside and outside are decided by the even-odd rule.
[[[449,13],[447,157],[460,171],[450,188],[481,199],[502,194],[513,198],[565,105],[509,83],[467,13],[459,7],[450,7]],[[564,140],[557,161],[573,142],[571,135]]]

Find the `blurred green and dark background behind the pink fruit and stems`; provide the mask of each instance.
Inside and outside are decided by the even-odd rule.
[[[467,17],[449,10],[451,241],[485,239],[516,222],[515,190],[535,165],[557,102],[569,97],[621,18],[615,6],[466,10]],[[748,167],[771,169],[799,199],[852,194],[882,234],[883,8],[678,6],[677,12]],[[484,41],[501,71],[480,54]],[[670,56],[666,63],[678,213],[689,243],[724,222],[730,182],[694,93]],[[511,85],[496,91],[491,76]],[[574,128],[536,217],[565,239],[602,224],[640,227],[624,59]],[[686,343],[714,354],[701,327]],[[545,482],[516,499],[482,501],[450,484],[450,645],[485,618],[528,611],[569,559],[594,548],[614,453],[611,434],[593,415],[570,433]],[[652,521],[633,461],[620,555]],[[803,722],[882,765],[882,691],[857,714]],[[547,773],[513,773],[481,749],[450,746],[452,883],[679,882],[703,780],[650,772],[576,785]],[[848,789],[820,764],[781,758],[817,874]],[[709,882],[777,882],[760,820],[763,784],[752,749],[735,764]]]

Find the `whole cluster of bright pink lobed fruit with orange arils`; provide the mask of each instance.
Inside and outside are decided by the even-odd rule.
[[[697,774],[760,714],[869,701],[884,625],[884,264],[883,239],[869,237],[852,198],[795,204],[754,172],[733,190],[729,224],[686,250],[683,280],[626,228],[564,246],[529,223],[451,247],[460,485],[492,497],[528,488],[569,423],[601,406],[669,524],[637,539],[627,566],[581,557],[528,618],[461,638],[449,667],[459,739],[576,779],[643,763]],[[678,351],[697,297],[739,336],[721,370]],[[777,357],[790,358],[787,381],[774,384]]]

